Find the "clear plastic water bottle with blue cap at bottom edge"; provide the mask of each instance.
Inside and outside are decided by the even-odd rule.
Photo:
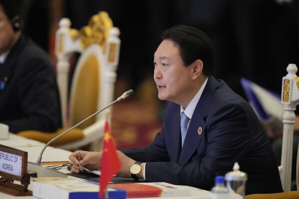
[[[224,183],[224,176],[216,176],[215,186],[210,193],[211,199],[231,199],[231,192]]]

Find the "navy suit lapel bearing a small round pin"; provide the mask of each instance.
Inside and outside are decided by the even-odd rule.
[[[188,131],[186,134],[185,142],[180,154],[179,164],[185,164],[192,157],[194,152],[197,150],[204,134],[206,131],[205,118],[208,115],[210,108],[212,96],[215,91],[216,79],[214,77],[209,77],[206,87],[196,105],[192,119],[190,121]],[[199,128],[202,128],[202,133],[199,135]]]

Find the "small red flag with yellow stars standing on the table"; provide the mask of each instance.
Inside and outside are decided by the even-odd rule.
[[[101,176],[100,176],[100,199],[103,197],[104,191],[113,176],[120,170],[121,163],[116,154],[116,147],[113,137],[110,132],[108,121],[105,124],[105,134],[103,141],[103,156],[101,162]]]

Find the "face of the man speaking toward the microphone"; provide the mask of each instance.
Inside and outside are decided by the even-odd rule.
[[[154,80],[158,97],[183,105],[192,89],[192,67],[186,67],[178,46],[171,40],[163,40],[154,54]],[[187,94],[187,96],[186,96]],[[187,97],[188,98],[188,97]]]

